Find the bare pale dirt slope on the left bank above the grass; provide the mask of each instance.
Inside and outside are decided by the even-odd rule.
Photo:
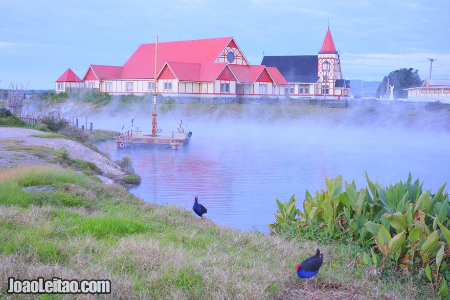
[[[42,132],[28,128],[1,127],[0,132],[0,167],[53,165],[38,155],[30,154],[23,147],[39,146],[52,149],[64,148],[69,157],[95,164],[102,171],[102,174],[97,175],[97,177],[105,183],[120,181],[127,175],[116,163],[76,141],[32,137],[30,135],[41,134]],[[21,146],[20,149],[16,151],[7,150],[17,144]]]

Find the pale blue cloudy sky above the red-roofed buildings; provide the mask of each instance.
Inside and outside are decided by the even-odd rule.
[[[400,68],[450,78],[446,0],[16,0],[0,3],[0,88],[53,89],[68,68],[122,66],[143,43],[235,38],[263,55],[316,55],[329,25],[348,80]],[[429,59],[434,61],[431,65]]]

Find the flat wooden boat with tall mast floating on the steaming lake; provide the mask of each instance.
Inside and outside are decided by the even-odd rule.
[[[180,150],[189,145],[192,131],[185,132],[182,128],[183,121],[178,128],[178,132],[162,132],[157,129],[156,125],[156,96],[158,94],[158,80],[156,80],[156,65],[158,62],[158,36],[156,36],[155,44],[155,76],[154,76],[154,93],[153,93],[153,113],[152,113],[152,129],[151,132],[143,132],[139,130],[131,130],[116,136],[116,147],[127,148],[138,145],[159,145],[163,148],[169,147],[173,150]]]

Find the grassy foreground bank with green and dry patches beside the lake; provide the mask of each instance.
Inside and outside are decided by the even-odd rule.
[[[433,298],[358,264],[357,246],[241,232],[50,166],[0,173],[0,240],[0,297],[20,298],[6,294],[8,277],[42,276],[111,280],[100,298]],[[319,288],[303,290],[295,265],[317,247]]]

